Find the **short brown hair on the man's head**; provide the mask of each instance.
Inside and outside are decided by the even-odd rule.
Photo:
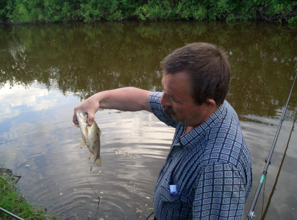
[[[163,74],[185,72],[198,105],[208,98],[221,105],[229,90],[231,67],[227,53],[214,44],[192,43],[169,54],[161,62]]]

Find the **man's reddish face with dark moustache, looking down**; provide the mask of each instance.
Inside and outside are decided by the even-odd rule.
[[[207,119],[207,106],[195,103],[185,73],[163,75],[162,85],[164,94],[160,102],[164,106],[166,114],[175,121],[197,127]]]

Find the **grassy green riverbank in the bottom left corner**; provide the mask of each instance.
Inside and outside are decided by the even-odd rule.
[[[46,208],[45,210],[35,209],[25,200],[16,187],[19,178],[21,177],[15,175],[12,170],[0,165],[0,207],[22,219],[56,219],[53,213],[46,211]],[[0,219],[14,218],[0,211]]]

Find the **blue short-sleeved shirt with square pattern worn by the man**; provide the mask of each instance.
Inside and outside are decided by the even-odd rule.
[[[252,186],[252,159],[236,112],[225,101],[182,135],[185,126],[165,114],[162,94],[151,93],[151,109],[176,131],[156,183],[156,219],[240,220]],[[176,185],[176,194],[169,185]]]

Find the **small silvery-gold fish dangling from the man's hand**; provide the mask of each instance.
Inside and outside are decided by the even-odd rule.
[[[90,151],[89,160],[94,156],[94,164],[91,166],[90,171],[92,171],[94,165],[101,167],[102,162],[100,158],[100,135],[101,130],[97,123],[94,121],[92,125],[88,125],[87,119],[88,114],[86,112],[78,110],[76,112],[76,118],[78,120],[78,125],[80,128],[82,140],[80,141],[80,148],[87,146]]]

